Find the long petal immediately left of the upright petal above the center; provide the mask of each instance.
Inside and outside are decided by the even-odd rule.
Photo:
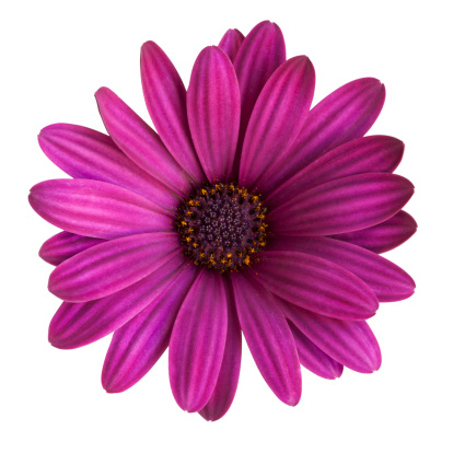
[[[141,47],[141,84],[152,123],[175,161],[205,181],[187,123],[186,89],[165,53],[152,40]]]

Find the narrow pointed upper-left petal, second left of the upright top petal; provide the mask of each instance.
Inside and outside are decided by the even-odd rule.
[[[107,88],[95,96],[105,128],[123,152],[176,194],[190,191],[187,174],[151,127]]]

